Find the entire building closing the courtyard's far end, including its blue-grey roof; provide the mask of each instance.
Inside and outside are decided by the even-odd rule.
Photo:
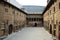
[[[30,27],[42,27],[44,6],[24,5],[23,10],[27,11],[27,25]]]

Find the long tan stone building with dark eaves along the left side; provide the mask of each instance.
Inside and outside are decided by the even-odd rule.
[[[0,1],[0,37],[23,28],[26,24],[26,12],[14,5]]]

